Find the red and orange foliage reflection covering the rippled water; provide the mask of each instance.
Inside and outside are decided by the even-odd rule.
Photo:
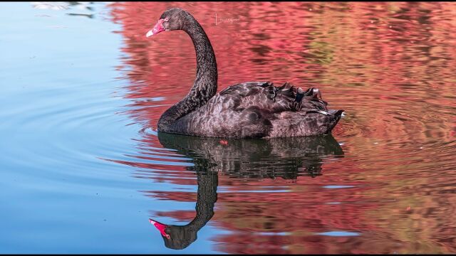
[[[113,21],[122,26],[118,33],[124,38],[124,56],[119,69],[129,80],[125,95],[133,102],[129,114],[147,127],[156,127],[162,112],[187,93],[195,78],[195,50],[185,32],[145,37],[162,12],[174,6],[190,11],[209,36],[217,57],[219,90],[244,81],[290,81],[320,87],[332,108],[348,112],[333,134],[347,139],[343,149],[351,157],[324,164],[323,176],[298,176],[290,183],[281,178],[246,181],[219,175],[219,186],[227,192],[218,193],[212,225],[232,233],[213,238],[217,250],[456,252],[456,223],[448,218],[456,206],[450,193],[456,182],[450,172],[455,166],[450,154],[456,131],[455,4],[128,2],[110,6]],[[157,97],[165,99],[147,100]],[[153,137],[142,143],[160,145]],[[422,143],[423,150],[413,147],[416,143]],[[172,166],[170,178],[170,166],[118,162],[149,169],[155,181],[197,184],[185,166]],[[150,178],[145,172],[135,176]],[[353,187],[322,188],[326,184]],[[258,192],[265,187],[290,191]],[[172,201],[197,197],[188,192],[145,192]],[[190,221],[195,212],[159,215]],[[331,230],[361,235],[314,234]]]

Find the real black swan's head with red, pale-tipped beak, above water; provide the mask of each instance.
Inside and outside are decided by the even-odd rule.
[[[167,9],[146,36],[150,37],[162,31],[180,30],[190,14],[180,8]]]

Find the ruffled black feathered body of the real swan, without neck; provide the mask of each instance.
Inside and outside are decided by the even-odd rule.
[[[328,110],[316,88],[243,82],[214,95],[168,131],[204,137],[269,138],[328,134],[343,110]]]

